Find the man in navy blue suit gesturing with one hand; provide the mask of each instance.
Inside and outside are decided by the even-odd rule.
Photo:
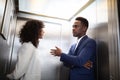
[[[70,80],[95,80],[96,42],[86,35],[88,26],[87,19],[77,17],[73,24],[73,36],[78,38],[78,42],[71,46],[68,54],[58,47],[51,49],[51,54],[60,56],[60,61],[70,68]]]

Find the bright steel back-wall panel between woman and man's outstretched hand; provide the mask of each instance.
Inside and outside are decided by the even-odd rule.
[[[39,43],[42,80],[59,80],[61,65],[59,57],[50,54],[50,49],[55,46],[61,47],[61,25],[46,23],[45,36]]]

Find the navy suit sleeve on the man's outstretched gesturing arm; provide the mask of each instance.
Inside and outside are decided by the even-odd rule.
[[[67,55],[62,53],[60,60],[64,63],[70,64],[72,66],[81,67],[88,60],[94,60],[94,56],[96,55],[96,43],[94,40],[89,40],[87,44],[78,51],[79,55]]]

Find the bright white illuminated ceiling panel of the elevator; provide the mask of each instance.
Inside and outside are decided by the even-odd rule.
[[[19,0],[19,11],[68,20],[88,2],[89,0]]]

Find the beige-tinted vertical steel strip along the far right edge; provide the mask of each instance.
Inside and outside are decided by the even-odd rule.
[[[118,0],[111,0],[108,3],[108,36],[109,36],[109,63],[110,63],[110,76],[113,80],[120,79],[120,25]]]

